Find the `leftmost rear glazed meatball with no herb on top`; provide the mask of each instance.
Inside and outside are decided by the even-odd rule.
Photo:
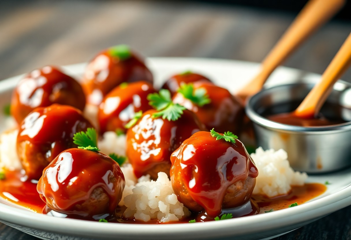
[[[85,95],[80,84],[58,68],[46,66],[27,74],[14,89],[11,115],[20,122],[36,107],[54,103],[83,111]]]

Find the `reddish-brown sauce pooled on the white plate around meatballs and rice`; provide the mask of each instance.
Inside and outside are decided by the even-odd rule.
[[[11,202],[12,204],[22,206],[33,212],[44,213],[47,211],[44,201],[40,199],[39,193],[37,192],[36,181],[21,181],[24,176],[19,171],[6,171],[6,178],[0,180],[0,197],[2,202]],[[265,211],[273,211],[287,208],[290,204],[297,202],[301,205],[317,196],[323,194],[326,191],[326,186],[319,183],[308,183],[303,186],[293,186],[290,193],[286,195],[280,195],[273,198],[268,198],[264,195],[252,195],[251,200],[243,206],[233,209],[223,209],[222,213],[232,213],[233,218],[240,216],[249,216],[254,214],[265,213]],[[151,220],[149,222],[143,222],[134,219],[122,218],[122,213],[125,207],[117,207],[115,215],[107,216],[106,219],[109,222],[116,223],[132,223],[132,224],[164,224],[158,220]],[[196,219],[196,221],[212,221],[213,218],[208,218],[205,213],[193,213],[187,218],[181,219],[179,222],[169,222],[172,224],[176,223],[188,223],[189,220]],[[96,221],[96,220],[95,220]],[[166,223],[168,224],[168,223]]]

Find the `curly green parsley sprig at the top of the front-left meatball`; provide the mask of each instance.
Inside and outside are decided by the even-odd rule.
[[[78,145],[78,148],[87,149],[91,151],[100,151],[97,144],[97,133],[92,127],[88,128],[86,132],[78,132],[73,135],[73,143]]]

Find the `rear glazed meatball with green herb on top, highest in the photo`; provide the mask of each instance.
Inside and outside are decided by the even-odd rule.
[[[152,74],[144,60],[129,47],[118,45],[95,56],[85,70],[82,86],[87,102],[99,105],[104,96],[122,82],[136,81],[152,84]]]

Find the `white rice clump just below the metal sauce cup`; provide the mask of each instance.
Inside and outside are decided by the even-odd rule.
[[[251,157],[258,169],[253,194],[269,197],[289,193],[291,186],[301,186],[307,179],[306,173],[294,172],[283,149],[264,151],[261,147]]]

